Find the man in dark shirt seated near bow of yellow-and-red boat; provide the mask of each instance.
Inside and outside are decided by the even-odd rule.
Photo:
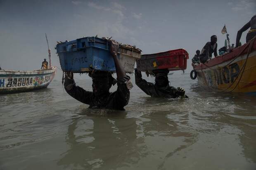
[[[204,48],[201,51],[200,54],[200,61],[201,63],[205,63],[209,59],[211,59],[212,53],[214,53],[214,56],[218,56],[217,54],[217,36],[212,35],[211,36],[211,42],[207,42],[204,46]]]

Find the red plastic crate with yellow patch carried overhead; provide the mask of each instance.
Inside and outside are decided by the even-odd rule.
[[[187,68],[188,53],[185,49],[175,49],[156,54],[144,54],[137,60],[137,70],[152,72],[152,70],[168,69],[185,70]]]

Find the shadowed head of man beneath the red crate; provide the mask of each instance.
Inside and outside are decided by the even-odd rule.
[[[165,87],[168,85],[168,72],[169,70],[167,69],[153,70],[153,73],[155,75],[156,86]]]

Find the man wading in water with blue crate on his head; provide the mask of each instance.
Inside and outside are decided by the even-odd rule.
[[[116,66],[117,81],[110,72],[92,71],[89,76],[92,77],[92,92],[85,91],[83,88],[76,86],[72,72],[65,73],[64,88],[66,92],[76,100],[90,105],[90,108],[116,109],[124,110],[130,99],[130,89],[132,84],[130,77],[126,75],[123,66],[117,58],[119,44],[111,40],[111,54]],[[117,90],[109,92],[112,85],[117,82]]]

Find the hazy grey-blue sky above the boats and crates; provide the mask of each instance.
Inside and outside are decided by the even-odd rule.
[[[226,24],[235,43],[237,30],[254,14],[254,0],[0,0],[0,66],[39,69],[43,58],[48,60],[47,33],[58,67],[56,41],[98,35],[136,45],[142,54],[184,48],[190,71],[195,51],[211,35],[217,35],[218,49],[223,47]]]

